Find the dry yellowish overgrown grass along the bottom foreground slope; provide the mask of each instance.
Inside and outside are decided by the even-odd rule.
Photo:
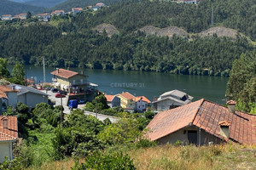
[[[256,167],[256,145],[220,144],[196,147],[166,144],[146,149],[127,150],[127,152],[138,170],[253,170]],[[80,162],[83,161],[80,160]],[[75,161],[69,158],[45,163],[37,169],[66,170],[71,169],[74,164]],[[32,169],[35,168],[28,168],[28,170]]]

